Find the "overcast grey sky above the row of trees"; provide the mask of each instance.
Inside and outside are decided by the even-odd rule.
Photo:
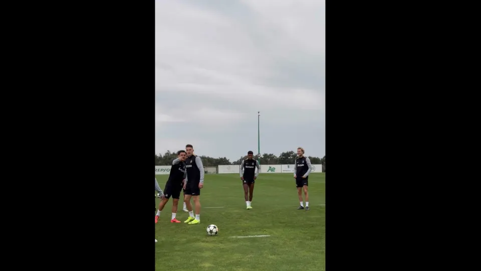
[[[325,155],[324,0],[157,0],[155,153]]]

